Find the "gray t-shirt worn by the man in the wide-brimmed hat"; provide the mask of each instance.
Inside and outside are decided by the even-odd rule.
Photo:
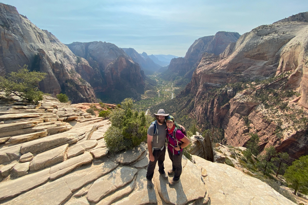
[[[159,125],[158,123],[156,123],[157,125],[157,131],[154,134],[154,125],[150,125],[149,129],[148,129],[148,134],[153,136],[152,139],[152,147],[153,148],[161,148],[165,145],[165,141],[166,141],[166,136],[167,136],[167,126],[166,123],[164,122],[163,125]],[[158,137],[158,138],[157,138]]]

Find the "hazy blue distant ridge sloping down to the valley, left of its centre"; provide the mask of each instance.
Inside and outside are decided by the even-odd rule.
[[[136,50],[133,48],[122,48],[131,59],[138,63],[141,66],[141,69],[144,71],[144,74],[150,75],[156,72],[158,69],[161,68],[160,65],[157,65],[153,62],[149,56],[143,52],[142,55],[140,55]]]

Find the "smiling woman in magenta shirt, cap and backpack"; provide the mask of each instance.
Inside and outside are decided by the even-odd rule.
[[[172,161],[172,169],[168,171],[168,175],[174,175],[169,181],[169,186],[175,186],[182,174],[182,155],[183,148],[187,147],[190,140],[182,133],[175,122],[175,118],[171,115],[166,118],[167,124],[167,142],[168,154]]]

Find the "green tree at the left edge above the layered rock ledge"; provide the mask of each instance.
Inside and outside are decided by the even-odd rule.
[[[11,72],[6,78],[0,76],[0,91],[6,95],[11,93],[28,101],[40,101],[43,99],[43,92],[38,89],[38,83],[46,77],[46,73],[28,70],[25,65],[17,72]]]

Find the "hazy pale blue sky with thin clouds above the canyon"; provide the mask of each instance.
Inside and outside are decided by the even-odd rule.
[[[1,1],[1,0],[0,0]],[[241,35],[308,11],[307,0],[2,0],[64,44],[109,42],[139,53],[184,56],[199,37]]]

